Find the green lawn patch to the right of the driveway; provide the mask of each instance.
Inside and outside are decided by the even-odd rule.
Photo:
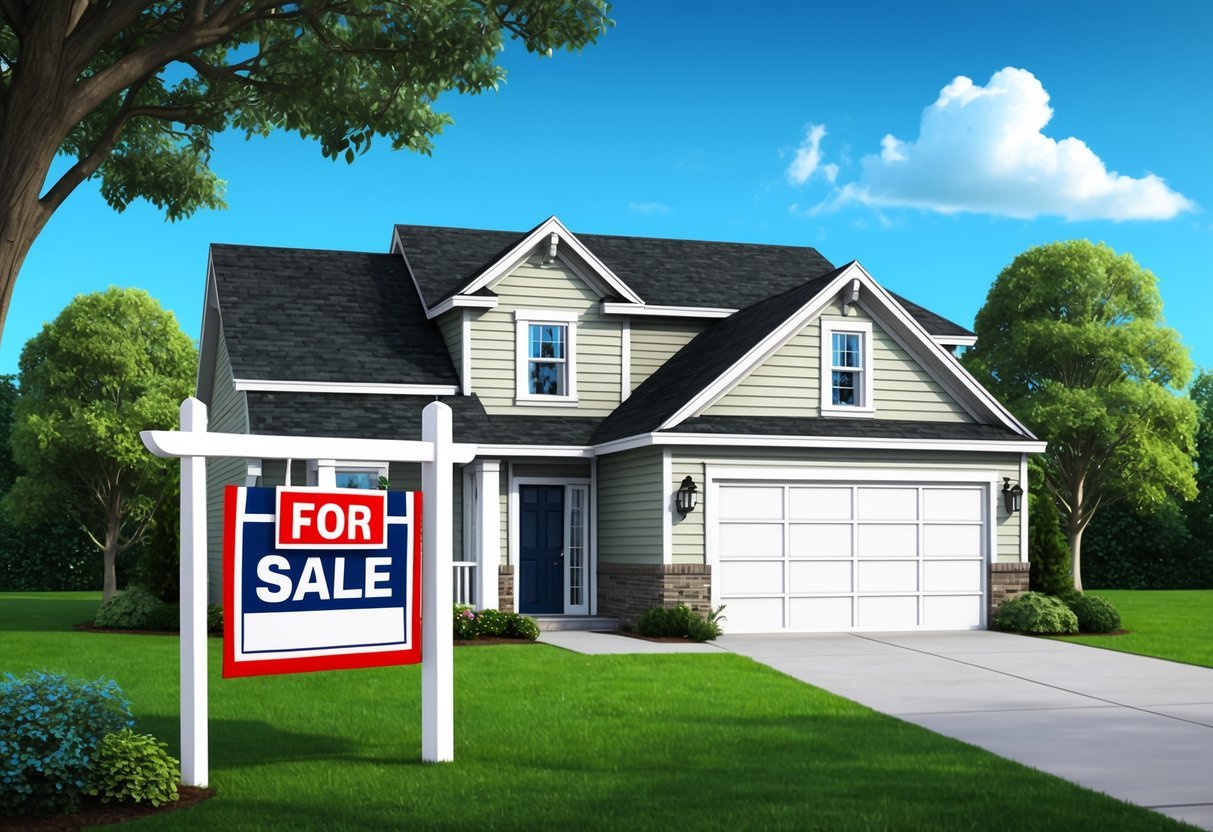
[[[1066,642],[1213,667],[1213,589],[1093,589],[1116,605],[1127,636]]]

